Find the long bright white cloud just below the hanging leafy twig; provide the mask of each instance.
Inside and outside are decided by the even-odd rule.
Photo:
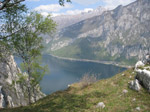
[[[65,4],[65,6],[60,6],[59,4],[50,4],[50,5],[40,5],[34,10],[39,12],[59,12],[62,9],[72,8],[71,4]]]

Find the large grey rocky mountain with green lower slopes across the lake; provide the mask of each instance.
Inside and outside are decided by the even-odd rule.
[[[62,28],[45,53],[133,64],[149,52],[150,0],[137,0]]]

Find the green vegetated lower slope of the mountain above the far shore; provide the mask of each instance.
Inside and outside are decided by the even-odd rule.
[[[62,41],[62,39],[53,41],[53,44],[56,44],[58,41]],[[137,57],[126,59],[124,55],[118,56],[118,54],[111,56],[107,52],[107,49],[104,48],[101,43],[99,43],[98,38],[91,39],[90,37],[87,37],[83,39],[78,39],[75,40],[74,43],[56,50],[50,50],[49,46],[51,45],[52,42],[46,46],[44,54],[52,54],[65,58],[113,61],[119,63],[120,65],[133,65],[137,61]]]

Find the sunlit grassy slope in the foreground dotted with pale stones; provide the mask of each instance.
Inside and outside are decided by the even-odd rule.
[[[141,108],[140,112],[150,112],[150,94],[145,89],[135,92],[128,88],[128,82],[135,76],[132,72],[129,69],[123,72],[124,76],[120,73],[84,89],[80,88],[80,83],[73,84],[67,90],[49,95],[31,106],[0,112],[136,112],[136,107]],[[128,93],[123,94],[124,89]],[[96,108],[98,102],[104,102],[106,107],[102,110]]]

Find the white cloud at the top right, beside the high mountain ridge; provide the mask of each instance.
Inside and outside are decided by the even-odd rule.
[[[127,5],[135,0],[102,0],[105,3],[105,8],[114,9],[118,5]]]

